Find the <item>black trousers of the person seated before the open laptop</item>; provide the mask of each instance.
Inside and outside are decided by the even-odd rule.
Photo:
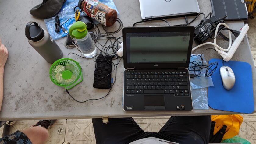
[[[154,137],[179,144],[208,144],[210,116],[173,116],[159,132],[144,132],[133,118],[92,119],[96,143],[129,144],[138,139]]]

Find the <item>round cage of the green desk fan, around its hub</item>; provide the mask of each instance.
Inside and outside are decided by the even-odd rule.
[[[70,79],[63,79],[62,72],[65,70],[69,70],[72,72],[72,76]],[[50,71],[50,78],[52,82],[58,86],[70,86],[73,85],[80,78],[81,67],[78,62],[64,58],[56,61]]]

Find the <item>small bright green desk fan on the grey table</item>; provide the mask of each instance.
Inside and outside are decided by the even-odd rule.
[[[50,68],[49,75],[55,85],[64,87],[67,90],[83,80],[79,63],[70,58],[62,58],[55,61]]]

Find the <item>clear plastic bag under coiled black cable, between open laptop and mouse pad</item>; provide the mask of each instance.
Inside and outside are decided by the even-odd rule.
[[[194,54],[191,54],[191,56]],[[204,60],[204,65],[207,65],[207,62],[204,58],[204,55],[202,55],[202,58]],[[202,62],[201,58],[199,56],[192,56],[190,58],[190,61],[196,61],[198,63]],[[191,66],[191,63],[189,64],[189,66]],[[191,68],[189,68],[191,69]],[[202,69],[201,74],[199,74],[199,71],[189,71],[190,74],[199,74],[199,76],[205,76],[205,72],[206,72],[206,68]],[[200,89],[200,88],[205,88],[205,87],[209,87],[209,86],[213,86],[213,82],[212,82],[212,78],[211,76],[209,77],[194,77],[194,78],[190,78],[190,87],[191,90],[194,89]]]

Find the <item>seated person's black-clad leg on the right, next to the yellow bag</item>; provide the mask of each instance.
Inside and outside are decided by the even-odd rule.
[[[158,132],[165,140],[179,144],[208,144],[210,135],[210,116],[174,116]]]

